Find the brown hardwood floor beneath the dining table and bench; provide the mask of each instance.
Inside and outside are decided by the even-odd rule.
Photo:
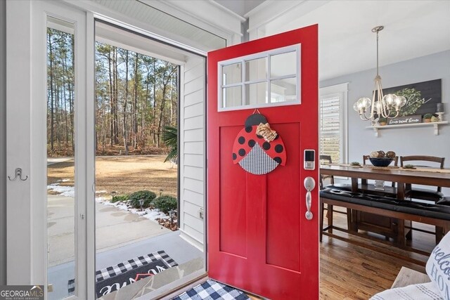
[[[335,225],[347,228],[345,218],[345,215],[335,214]],[[414,226],[434,230],[432,226],[423,224],[414,223]],[[333,233],[337,233],[336,230]],[[338,234],[357,242],[365,242],[369,247],[376,246],[387,252],[392,251],[394,256],[411,257],[423,261],[423,263],[428,259],[427,256],[401,251],[380,242],[349,236],[347,233]],[[435,237],[428,233],[413,231],[412,243],[414,247],[420,247],[420,249],[431,252],[435,247]],[[377,251],[359,247],[335,237],[324,235],[320,244],[320,251],[321,299],[369,299],[373,294],[391,287],[401,266],[425,273],[425,267],[411,263],[408,259],[380,254]]]

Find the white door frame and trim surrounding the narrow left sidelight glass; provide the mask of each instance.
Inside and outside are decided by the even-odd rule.
[[[7,1],[8,285],[47,285],[46,28],[47,16],[75,26],[76,294],[94,299],[94,16],[53,1]],[[89,22],[89,21],[90,22]],[[90,152],[87,150],[91,150]],[[13,201],[14,200],[14,201]],[[86,226],[87,225],[87,226]],[[86,249],[88,251],[86,252]],[[89,256],[89,259],[88,259]],[[30,270],[30,273],[27,273]],[[86,277],[86,274],[88,276]],[[89,283],[94,285],[94,283]]]

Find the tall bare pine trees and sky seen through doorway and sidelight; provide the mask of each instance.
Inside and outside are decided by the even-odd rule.
[[[72,34],[48,29],[47,142],[53,156],[74,150],[73,49]],[[178,65],[96,42],[97,155],[164,152],[163,131],[177,122],[178,77]]]

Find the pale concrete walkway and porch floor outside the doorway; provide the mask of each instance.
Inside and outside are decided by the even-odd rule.
[[[49,195],[49,299],[68,296],[68,280],[75,278],[75,237],[73,198]],[[154,221],[117,207],[96,203],[96,270],[164,250],[179,265],[198,261],[203,267],[203,252]]]

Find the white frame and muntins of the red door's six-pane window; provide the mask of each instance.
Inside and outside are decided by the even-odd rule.
[[[283,53],[290,53],[295,52],[296,57],[296,67],[295,67],[295,73],[294,74],[285,74],[283,76],[276,76],[271,77],[271,57],[276,56],[278,54]],[[245,68],[246,68],[246,62],[250,60],[257,60],[258,58],[266,58],[266,78],[264,79],[257,79],[257,80],[248,80],[245,81]],[[236,82],[233,84],[226,84],[224,83],[224,76],[223,76],[223,67],[226,67],[227,65],[233,65],[240,63],[241,65],[241,80],[240,82]],[[219,87],[217,89],[217,111],[223,112],[223,111],[230,111],[230,110],[246,110],[251,108],[259,108],[259,107],[270,107],[270,106],[283,106],[283,105],[295,105],[300,104],[301,101],[301,44],[295,44],[292,46],[286,46],[283,48],[276,48],[274,50],[270,51],[263,51],[259,53],[254,53],[249,56],[240,56],[239,58],[233,58],[231,60],[223,60],[219,61],[217,63],[217,80]],[[295,100],[287,100],[287,101],[277,101],[274,102],[271,100],[272,98],[277,99],[280,97],[277,93],[273,93],[271,91],[271,82],[276,80],[283,80],[283,79],[295,79]],[[251,84],[259,84],[259,83],[266,83],[266,103],[258,103],[258,104],[245,104],[246,103],[246,93],[245,93],[245,86],[250,86]],[[240,105],[232,106],[232,107],[226,107],[226,97],[225,91],[226,88],[232,88],[240,86],[241,87],[241,103]],[[269,96],[270,95],[270,96]]]

